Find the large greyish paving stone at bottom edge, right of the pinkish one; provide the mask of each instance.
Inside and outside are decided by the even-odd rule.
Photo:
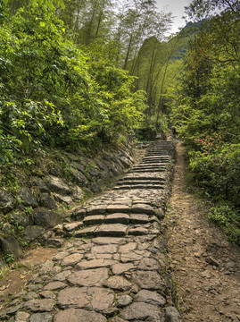
[[[127,320],[164,322],[164,317],[161,314],[160,309],[144,302],[132,303],[121,311],[120,317]]]

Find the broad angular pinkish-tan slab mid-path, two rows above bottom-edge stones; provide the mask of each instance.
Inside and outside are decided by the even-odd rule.
[[[103,267],[73,273],[68,281],[74,286],[101,286],[107,278],[108,268]]]

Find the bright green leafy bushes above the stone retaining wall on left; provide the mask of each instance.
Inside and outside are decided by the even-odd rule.
[[[137,124],[145,94],[132,94],[134,78],[114,66],[116,51],[105,44],[79,49],[46,5],[21,8],[4,22],[0,164],[44,146],[101,147]]]

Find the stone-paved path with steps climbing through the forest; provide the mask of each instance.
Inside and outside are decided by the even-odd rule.
[[[149,145],[112,191],[54,227],[69,238],[39,267],[1,320],[18,322],[178,322],[168,273],[164,216],[170,194],[170,141]]]

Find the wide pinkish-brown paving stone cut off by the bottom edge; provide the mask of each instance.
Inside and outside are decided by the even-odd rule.
[[[89,312],[85,309],[65,309],[57,313],[54,322],[107,322],[102,314]]]

